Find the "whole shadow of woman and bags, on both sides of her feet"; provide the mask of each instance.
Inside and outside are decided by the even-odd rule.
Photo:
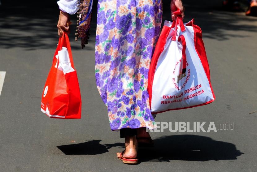
[[[100,144],[101,140],[57,146],[65,155],[96,155],[111,147],[124,148],[123,143]],[[155,139],[154,148],[139,148],[138,159],[144,161],[218,161],[236,160],[244,154],[232,143],[212,140],[200,135],[169,135]]]

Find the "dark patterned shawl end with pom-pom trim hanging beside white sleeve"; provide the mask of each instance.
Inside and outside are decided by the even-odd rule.
[[[85,44],[88,44],[89,39],[89,28],[91,26],[91,17],[92,17],[92,6],[93,0],[78,0],[79,12],[77,12],[77,33],[75,33],[75,41],[81,37],[81,46],[82,49],[85,47]]]

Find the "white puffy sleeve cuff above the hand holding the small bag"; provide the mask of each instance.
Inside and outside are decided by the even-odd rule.
[[[69,14],[75,14],[79,9],[79,7],[77,7],[79,5],[78,2],[78,0],[59,0],[57,4],[60,10]]]

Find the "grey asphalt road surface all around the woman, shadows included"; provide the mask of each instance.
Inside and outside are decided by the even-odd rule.
[[[151,133],[155,147],[139,149],[140,162],[132,166],[116,158],[124,140],[110,130],[95,84],[96,11],[85,49],[74,41],[76,16],[69,35],[82,118],[52,119],[41,113],[40,104],[58,42],[56,2],[37,6],[2,1],[0,71],[6,76],[0,96],[0,171],[257,171],[257,18],[198,2],[185,1],[185,22],[194,18],[203,30],[216,101],[155,119],[214,122],[217,132]],[[163,21],[169,20],[168,2],[163,10]],[[221,130],[223,124],[226,130]]]

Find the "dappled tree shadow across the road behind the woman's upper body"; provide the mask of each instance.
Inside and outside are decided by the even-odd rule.
[[[163,1],[163,22],[170,20],[170,1]],[[195,18],[196,24],[203,30],[203,36],[220,41],[231,37],[246,37],[224,33],[224,31],[250,31],[256,32],[257,27],[251,24],[256,18],[237,15],[233,12],[222,11],[216,7],[208,6],[204,1],[183,1],[186,7],[185,22]],[[22,3],[22,4],[21,4]],[[208,2],[209,3],[209,2]],[[207,3],[207,4],[208,4]],[[90,29],[91,39],[89,44],[94,45],[97,19],[97,0],[94,0],[93,19]],[[33,2],[4,0],[0,6],[0,48],[20,47],[25,50],[34,49],[55,49],[58,42],[57,21],[59,9],[56,1],[45,1],[40,6]],[[71,15],[72,25],[70,40],[75,39],[76,15]],[[239,24],[240,22],[247,24]],[[80,44],[76,44],[72,49],[81,49]],[[89,46],[85,49],[94,50]]]

